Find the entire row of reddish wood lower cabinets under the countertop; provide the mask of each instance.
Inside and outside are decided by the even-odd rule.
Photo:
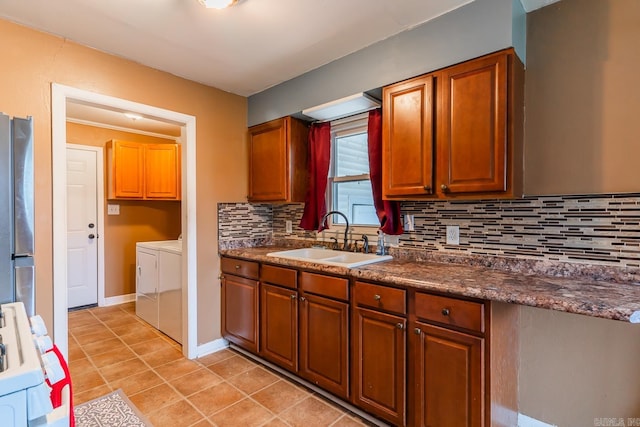
[[[227,340],[392,425],[490,425],[488,379],[513,381],[487,362],[486,302],[228,257],[222,272]]]

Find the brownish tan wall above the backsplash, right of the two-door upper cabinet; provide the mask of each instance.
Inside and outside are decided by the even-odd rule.
[[[526,194],[640,191],[639,21],[637,0],[528,15]]]

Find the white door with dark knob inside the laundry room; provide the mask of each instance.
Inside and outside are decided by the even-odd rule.
[[[68,307],[98,303],[97,153],[67,147]]]

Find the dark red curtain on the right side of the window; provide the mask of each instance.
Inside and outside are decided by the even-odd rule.
[[[373,205],[385,234],[402,234],[400,202],[382,200],[382,111],[369,111],[369,175],[373,190]]]

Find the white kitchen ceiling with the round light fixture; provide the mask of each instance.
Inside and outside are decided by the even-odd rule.
[[[249,96],[471,1],[0,0],[0,17]]]

